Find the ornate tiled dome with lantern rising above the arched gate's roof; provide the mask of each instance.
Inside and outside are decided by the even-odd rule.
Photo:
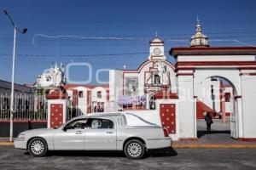
[[[190,47],[209,47],[208,37],[201,31],[201,25],[195,26],[196,32],[190,39]]]

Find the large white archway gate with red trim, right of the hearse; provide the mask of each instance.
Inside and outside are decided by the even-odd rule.
[[[223,77],[236,89],[231,137],[256,140],[256,48],[172,48],[177,60],[179,139],[195,139],[196,100],[208,77]]]

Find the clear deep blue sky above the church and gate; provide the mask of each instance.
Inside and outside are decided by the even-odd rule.
[[[11,80],[14,36],[3,14],[4,8],[17,26],[28,29],[25,35],[17,36],[15,82],[33,83],[52,62],[90,63],[93,77],[99,68],[122,69],[127,65],[127,69],[137,69],[148,57],[148,41],[155,31],[166,42],[166,56],[173,62],[168,50],[189,46],[189,37],[195,32],[196,14],[211,46],[255,45],[255,7],[253,0],[1,0],[0,79]],[[36,34],[137,40],[36,37],[33,42]],[[70,74],[73,81],[84,81],[88,77],[88,71],[82,67],[72,69]],[[108,80],[108,74],[102,74],[101,79]],[[90,82],[93,83],[95,79]]]

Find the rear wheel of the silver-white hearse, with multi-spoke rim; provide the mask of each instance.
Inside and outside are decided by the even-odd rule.
[[[125,144],[125,156],[129,159],[141,159],[145,154],[144,144],[137,139],[131,139]]]

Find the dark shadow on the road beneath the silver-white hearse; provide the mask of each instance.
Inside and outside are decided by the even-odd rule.
[[[30,155],[27,151],[24,155]],[[93,156],[93,157],[125,157],[123,151],[79,151],[79,150],[61,150],[61,151],[49,151],[47,156]],[[163,157],[163,156],[177,156],[177,152],[172,148],[165,148],[159,150],[148,150],[147,157]]]

